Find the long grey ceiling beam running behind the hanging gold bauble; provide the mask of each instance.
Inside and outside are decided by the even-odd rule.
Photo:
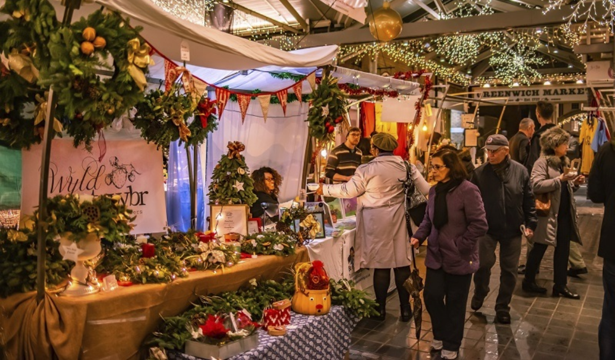
[[[561,24],[561,19],[571,14],[571,11],[571,9],[551,10],[547,12],[547,14],[542,14],[542,10],[522,10],[515,12],[514,15],[498,13],[482,15],[480,17],[462,17],[429,22],[405,23],[403,24],[402,33],[397,39],[412,39],[456,32],[476,33],[480,31]],[[302,45],[303,47],[314,47],[331,44],[357,44],[373,41],[374,38],[371,36],[370,30],[365,28],[336,31],[326,34],[311,34],[304,38]]]

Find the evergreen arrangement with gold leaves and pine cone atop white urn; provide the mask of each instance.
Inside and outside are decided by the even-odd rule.
[[[119,195],[57,195],[47,199],[47,213],[44,219],[39,219],[38,210],[33,216],[35,225],[44,222],[47,238],[65,237],[74,242],[90,233],[107,241],[123,242],[135,220]]]

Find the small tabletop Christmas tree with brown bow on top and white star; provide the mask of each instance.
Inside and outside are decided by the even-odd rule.
[[[229,149],[228,154],[222,155],[213,169],[212,183],[207,193],[209,203],[252,206],[257,198],[254,194],[254,181],[250,178],[244,156],[240,154],[245,146],[239,141],[229,141],[226,147]]]

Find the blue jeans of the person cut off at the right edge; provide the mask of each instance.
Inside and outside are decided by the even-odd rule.
[[[605,287],[605,300],[598,327],[600,360],[613,360],[615,359],[615,261],[605,259],[602,283]]]

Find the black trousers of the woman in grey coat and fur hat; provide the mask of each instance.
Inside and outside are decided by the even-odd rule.
[[[553,255],[553,282],[558,287],[566,286],[568,283],[568,278],[566,276],[568,276],[570,237],[573,233],[571,221],[573,221],[573,219],[561,219],[561,217],[557,220],[557,235],[555,236],[556,246]],[[526,282],[534,283],[536,281],[536,272],[538,271],[544,252],[547,251],[548,247],[549,245],[534,242],[534,248],[532,248],[532,251],[528,254],[528,261],[525,268]]]

